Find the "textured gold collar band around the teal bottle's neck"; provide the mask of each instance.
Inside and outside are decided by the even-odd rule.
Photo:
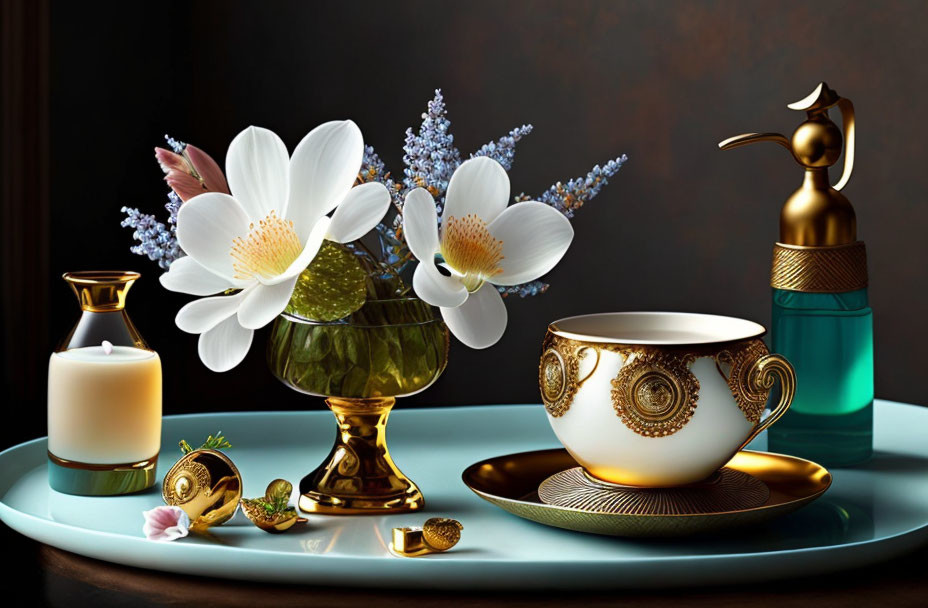
[[[833,247],[773,246],[770,286],[808,293],[841,293],[867,286],[863,241]]]

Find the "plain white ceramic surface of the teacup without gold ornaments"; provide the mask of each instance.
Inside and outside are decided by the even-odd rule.
[[[601,479],[642,486],[700,481],[725,464],[757,426],[738,408],[715,360],[703,356],[689,367],[699,382],[699,399],[686,425],[663,437],[636,433],[616,414],[612,399],[612,381],[629,358],[595,344],[711,349],[714,343],[758,338],[762,325],[716,315],[628,312],[569,317],[552,323],[550,331],[594,347],[581,355],[583,381],[569,409],[560,416],[549,413],[548,421],[577,462]]]

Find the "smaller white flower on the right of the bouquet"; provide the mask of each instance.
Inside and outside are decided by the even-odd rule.
[[[413,289],[471,348],[495,344],[506,330],[506,305],[495,285],[533,281],[560,261],[574,231],[556,209],[509,202],[509,177],[493,159],[472,158],[451,176],[438,234],[435,201],[416,188],[403,206],[403,232],[419,260]],[[435,265],[436,254],[450,273]]]

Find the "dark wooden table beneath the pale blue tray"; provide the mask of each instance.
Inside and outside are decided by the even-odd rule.
[[[4,606],[75,608],[217,606],[422,608],[538,605],[712,608],[928,606],[928,547],[890,562],[828,576],[765,584],[667,591],[501,593],[273,586],[180,576],[101,562],[42,545],[0,524]],[[526,581],[530,585],[530,581]],[[17,601],[10,602],[12,598]]]

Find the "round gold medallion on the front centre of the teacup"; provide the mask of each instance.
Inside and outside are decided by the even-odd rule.
[[[612,380],[612,405],[626,427],[645,437],[673,435],[690,421],[699,381],[687,358],[664,351],[630,354]]]

